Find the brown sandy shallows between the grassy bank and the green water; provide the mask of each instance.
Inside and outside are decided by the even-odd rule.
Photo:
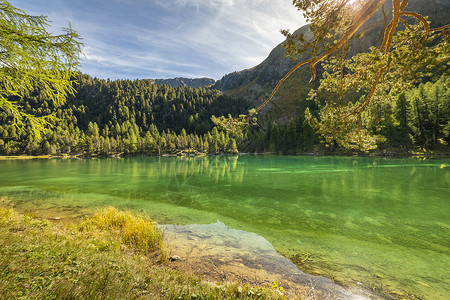
[[[280,255],[263,237],[231,229],[217,221],[209,225],[166,225],[172,266],[208,280],[235,281],[251,286],[275,283],[307,299],[377,299],[360,290],[351,292],[330,279],[312,276]]]

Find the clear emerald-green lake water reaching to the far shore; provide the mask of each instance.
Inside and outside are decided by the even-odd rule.
[[[0,161],[0,196],[47,208],[126,207],[166,224],[220,220],[345,286],[449,299],[449,171],[449,159]]]

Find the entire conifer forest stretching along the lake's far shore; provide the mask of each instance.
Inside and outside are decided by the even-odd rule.
[[[78,74],[76,93],[55,106],[34,90],[18,101],[27,113],[54,115],[43,134],[19,130],[0,113],[1,155],[343,154],[325,143],[305,114],[288,122],[260,118],[243,135],[214,126],[211,116],[245,114],[252,103],[207,88],[156,85],[150,80],[104,80]],[[373,153],[448,152],[450,80],[422,83],[395,102],[371,107]],[[305,100],[307,101],[307,100]],[[306,113],[317,115],[317,105]]]

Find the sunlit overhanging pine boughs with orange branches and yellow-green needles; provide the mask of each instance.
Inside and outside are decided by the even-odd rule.
[[[375,149],[381,140],[376,133],[370,134],[367,128],[370,121],[363,119],[372,117],[363,112],[370,106],[393,101],[395,95],[411,88],[421,78],[448,73],[450,52],[449,25],[432,29],[426,17],[406,10],[409,0],[392,0],[392,15],[388,22],[385,2],[294,0],[293,4],[311,23],[312,35],[309,32],[290,34],[282,31],[286,36],[283,45],[286,55],[303,60],[279,81],[256,111],[267,105],[295,70],[309,65],[311,79],[314,79],[316,65],[325,62],[320,87],[311,93],[321,111],[319,118],[314,118],[311,124],[327,144],[336,142],[341,147],[362,151]],[[373,45],[368,53],[346,58],[350,41],[358,38],[358,30],[380,7],[385,26],[378,45]],[[403,30],[399,30],[402,27]],[[305,53],[309,57],[302,57]],[[349,94],[364,97],[355,105]],[[326,104],[320,98],[325,99]]]

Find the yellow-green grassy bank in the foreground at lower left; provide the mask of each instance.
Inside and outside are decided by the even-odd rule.
[[[61,225],[0,201],[1,299],[285,299],[170,268],[163,229],[114,208]]]

